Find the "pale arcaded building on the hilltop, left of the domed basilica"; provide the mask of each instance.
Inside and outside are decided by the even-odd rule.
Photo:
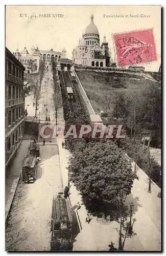
[[[19,52],[17,48],[16,52],[13,54],[26,68],[27,73],[31,73],[29,69],[31,60],[33,60],[37,66],[37,69],[33,73],[38,73],[40,59],[45,58],[46,60],[50,61],[51,58],[54,57],[56,60],[59,60],[61,58],[61,55],[63,58],[66,58],[66,50],[64,48],[62,49],[62,52],[56,52],[53,49],[51,49],[50,51],[46,51],[46,50],[39,50],[38,47],[35,48],[35,46],[32,46],[30,53],[25,47],[23,48],[22,52]]]

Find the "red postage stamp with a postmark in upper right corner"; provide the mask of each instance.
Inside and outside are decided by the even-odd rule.
[[[120,67],[157,60],[153,29],[113,35]]]

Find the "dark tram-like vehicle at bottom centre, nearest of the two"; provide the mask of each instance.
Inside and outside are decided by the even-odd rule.
[[[69,251],[72,249],[73,215],[68,199],[63,193],[53,197],[51,217],[51,250]]]

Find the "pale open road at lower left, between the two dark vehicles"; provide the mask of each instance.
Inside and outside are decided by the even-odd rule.
[[[35,183],[18,184],[6,228],[6,250],[49,251],[53,194],[61,189],[58,146],[40,146]]]

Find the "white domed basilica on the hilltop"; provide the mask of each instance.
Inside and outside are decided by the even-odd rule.
[[[90,24],[82,34],[78,46],[73,50],[72,60],[74,63],[84,66],[108,67],[109,59],[110,53],[106,36],[100,46],[99,31],[93,22],[93,15],[91,15]]]

